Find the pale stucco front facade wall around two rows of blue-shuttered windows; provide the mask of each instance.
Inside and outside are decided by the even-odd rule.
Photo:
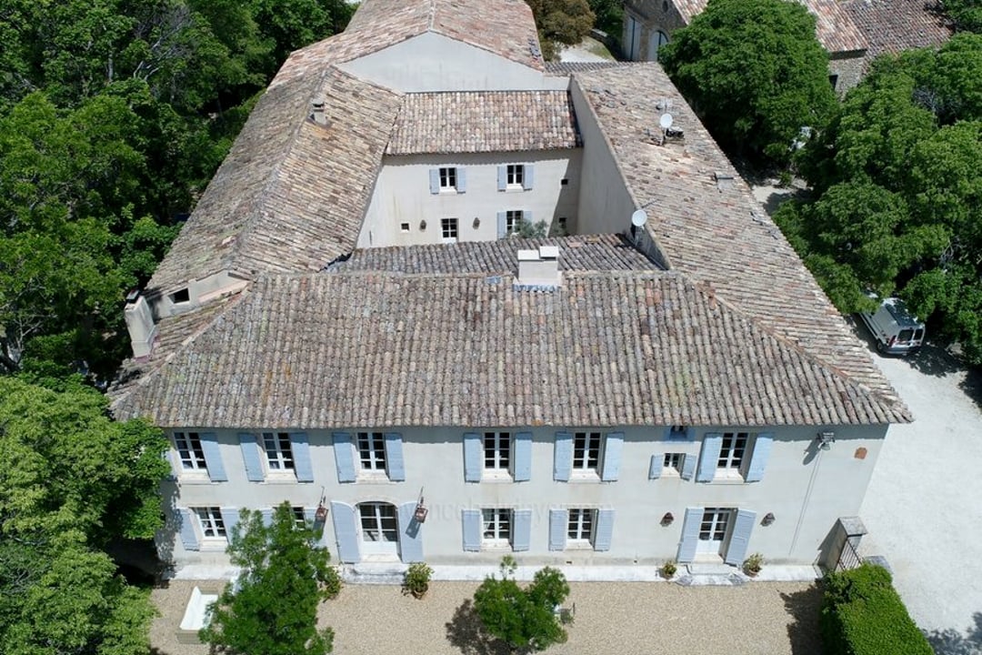
[[[363,428],[361,428],[363,429]],[[399,428],[395,428],[399,430]],[[483,428],[476,428],[482,430]],[[513,428],[518,431],[518,428]],[[463,550],[461,511],[465,508],[510,507],[532,510],[530,550],[520,554],[529,565],[658,564],[676,557],[687,507],[723,507],[756,513],[747,552],[761,552],[771,563],[812,564],[836,519],[857,515],[886,434],[886,426],[785,427],[773,430],[773,451],[760,482],[740,480],[699,483],[675,477],[648,479],[652,455],[666,452],[698,454],[703,435],[739,426],[692,428],[692,440],[668,442],[664,427],[625,427],[624,450],[617,481],[557,482],[553,480],[554,427],[522,428],[532,433],[531,479],[527,482],[464,481],[464,428],[405,428],[405,482],[339,483],[327,431],[308,431],[314,481],[248,482],[238,431],[218,431],[228,482],[167,483],[166,494],[178,507],[227,506],[263,508],[283,500],[315,506],[323,486],[328,501],[355,505],[363,501],[395,504],[413,502],[422,490],[429,516],[422,525],[423,552],[431,564],[495,564],[503,551],[467,553]],[[574,428],[573,428],[574,429]],[[743,428],[746,429],[746,428]],[[832,429],[837,442],[829,451],[816,448],[815,435]],[[607,430],[604,430],[607,431]],[[757,431],[757,430],[753,430]],[[866,449],[864,459],[856,457]],[[175,496],[179,494],[179,498]],[[609,552],[548,550],[548,520],[552,508],[613,508]],[[660,524],[666,512],[676,520]],[[770,526],[760,520],[773,513]],[[214,552],[186,552],[175,539],[174,521],[160,535],[161,550],[179,566],[227,564]],[[332,554],[337,542],[331,519],[324,539]]]

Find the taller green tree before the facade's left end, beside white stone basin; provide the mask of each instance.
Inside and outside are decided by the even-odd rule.
[[[219,596],[202,640],[233,654],[331,652],[333,630],[317,629],[317,606],[330,595],[330,554],[316,546],[313,526],[297,524],[289,502],[269,525],[258,511],[244,510],[228,552],[243,573]]]

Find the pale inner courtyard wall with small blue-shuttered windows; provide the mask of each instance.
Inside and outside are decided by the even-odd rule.
[[[511,153],[388,156],[375,184],[358,236],[358,247],[441,244],[440,220],[457,218],[458,242],[498,239],[498,212],[532,212],[532,222],[552,225],[563,216],[572,226],[579,194],[579,148]],[[532,188],[498,191],[498,167],[534,166]],[[431,193],[434,168],[465,170],[466,191]],[[567,181],[563,185],[563,180]],[[476,219],[476,227],[475,227]],[[425,229],[420,222],[425,221]],[[403,231],[403,224],[409,231]]]

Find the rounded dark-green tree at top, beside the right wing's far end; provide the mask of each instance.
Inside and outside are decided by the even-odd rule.
[[[836,107],[815,19],[787,0],[710,0],[659,60],[730,153],[785,164],[802,127]]]

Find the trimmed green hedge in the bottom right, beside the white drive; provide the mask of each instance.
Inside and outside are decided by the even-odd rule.
[[[820,619],[826,655],[933,655],[883,567],[829,573]]]

